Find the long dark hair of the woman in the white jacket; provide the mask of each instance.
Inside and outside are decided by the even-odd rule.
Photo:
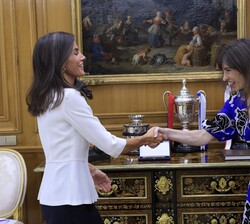
[[[43,114],[52,103],[53,109],[62,102],[64,88],[70,87],[63,78],[62,70],[72,52],[74,40],[74,35],[70,33],[53,32],[36,42],[33,51],[33,82],[26,96],[28,111],[33,116]]]

